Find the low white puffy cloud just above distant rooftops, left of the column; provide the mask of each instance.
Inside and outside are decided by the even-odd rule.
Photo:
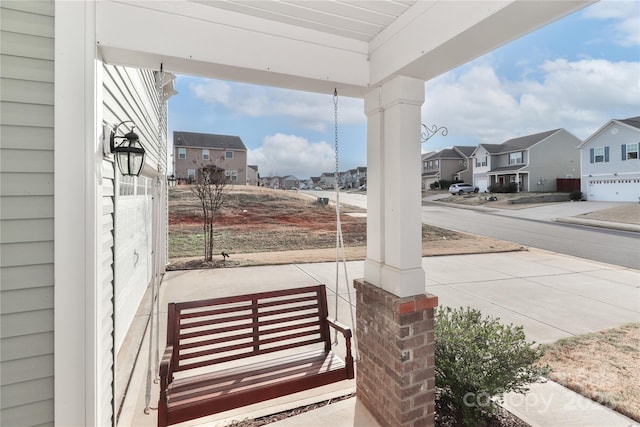
[[[249,150],[248,164],[258,165],[260,176],[319,176],[335,169],[334,149],[326,142],[309,142],[296,135],[266,136],[262,146]]]

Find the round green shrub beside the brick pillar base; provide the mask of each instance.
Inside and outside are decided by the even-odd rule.
[[[533,364],[542,350],[527,342],[522,326],[503,325],[471,308],[440,307],[435,318],[436,421],[482,426],[496,400],[525,392],[544,369]]]

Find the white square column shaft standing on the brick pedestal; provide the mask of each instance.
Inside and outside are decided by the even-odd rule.
[[[424,82],[399,76],[365,96],[367,259],[364,279],[400,297],[423,294],[420,108]]]

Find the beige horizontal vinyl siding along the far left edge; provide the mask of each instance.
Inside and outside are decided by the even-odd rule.
[[[54,4],[0,9],[0,425],[53,425]]]

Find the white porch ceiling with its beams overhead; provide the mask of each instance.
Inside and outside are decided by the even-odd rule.
[[[429,80],[591,0],[100,0],[108,63],[364,96]]]

